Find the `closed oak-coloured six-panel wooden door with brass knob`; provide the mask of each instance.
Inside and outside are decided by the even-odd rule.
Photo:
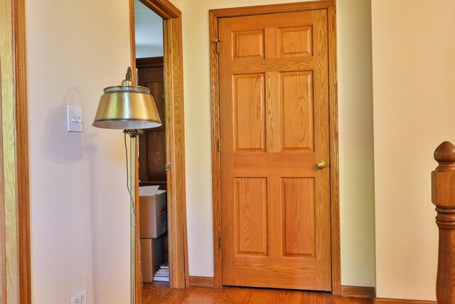
[[[331,290],[327,11],[218,26],[223,285]]]

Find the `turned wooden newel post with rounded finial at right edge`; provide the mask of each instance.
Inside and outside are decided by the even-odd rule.
[[[434,151],[439,166],[432,172],[432,201],[439,227],[438,304],[455,303],[455,146],[443,142]]]

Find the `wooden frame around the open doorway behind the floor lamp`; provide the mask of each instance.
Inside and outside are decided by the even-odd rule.
[[[181,11],[168,0],[140,1],[164,19],[166,162],[171,163],[171,171],[167,174],[169,285],[171,288],[186,288],[190,283],[190,278],[188,273],[188,241],[186,234],[182,17]],[[129,1],[129,20],[131,62],[132,68],[135,70],[134,0]],[[136,75],[134,75],[135,77]],[[138,267],[139,265],[137,264],[137,269]],[[137,285],[140,286],[141,282],[137,281]]]

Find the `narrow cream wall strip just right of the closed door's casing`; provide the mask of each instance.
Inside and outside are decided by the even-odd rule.
[[[337,2],[341,283],[375,285],[371,4]]]

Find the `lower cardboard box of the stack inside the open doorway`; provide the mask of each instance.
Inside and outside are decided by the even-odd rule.
[[[155,272],[163,263],[163,241],[158,239],[141,239],[141,273],[142,282],[154,281]]]

